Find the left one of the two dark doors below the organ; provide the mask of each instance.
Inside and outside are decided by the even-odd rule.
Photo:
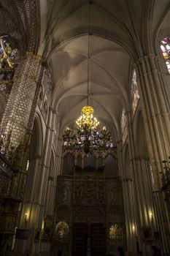
[[[88,225],[86,223],[74,223],[72,255],[86,256],[88,241]]]

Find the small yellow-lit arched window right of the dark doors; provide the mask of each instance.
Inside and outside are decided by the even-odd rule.
[[[123,228],[117,223],[109,228],[109,244],[120,245],[123,243]]]

